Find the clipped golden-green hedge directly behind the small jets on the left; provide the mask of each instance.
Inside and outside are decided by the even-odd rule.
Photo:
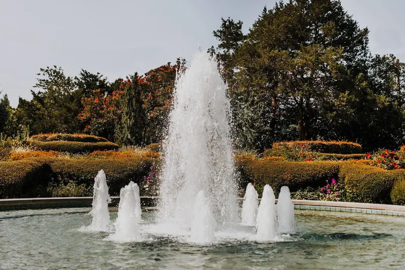
[[[57,183],[67,185],[73,182],[88,187],[93,185],[94,177],[103,169],[110,195],[118,196],[119,190],[130,181],[140,184],[154,162],[158,161],[147,157],[90,160],[55,158],[50,165]]]

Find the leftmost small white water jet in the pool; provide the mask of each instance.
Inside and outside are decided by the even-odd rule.
[[[93,203],[90,215],[93,216],[92,223],[82,228],[90,232],[107,232],[110,229],[110,212],[108,204],[111,202],[108,195],[107,178],[103,170],[100,170],[94,178]]]

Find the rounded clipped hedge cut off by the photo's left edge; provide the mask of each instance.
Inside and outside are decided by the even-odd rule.
[[[0,162],[0,198],[47,196],[52,177],[49,163],[44,158]]]

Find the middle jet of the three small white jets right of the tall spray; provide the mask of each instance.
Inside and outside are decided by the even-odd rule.
[[[269,185],[264,186],[262,200],[257,213],[257,241],[271,241],[277,237],[275,231],[275,196]]]

